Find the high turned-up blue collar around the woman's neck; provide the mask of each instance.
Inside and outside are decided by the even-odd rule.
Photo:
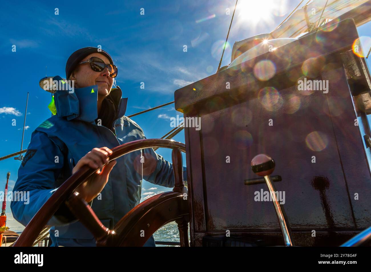
[[[62,80],[59,78],[57,76],[53,80]],[[117,111],[116,118],[123,117],[127,108],[128,98],[121,98],[121,96],[121,88],[117,86],[112,88],[109,95],[105,98],[113,103],[114,107],[110,108],[110,110]],[[98,118],[97,100],[98,85],[74,88],[72,93],[69,90],[57,90],[54,95],[56,114],[59,117],[66,117],[67,120],[95,123],[95,119]]]

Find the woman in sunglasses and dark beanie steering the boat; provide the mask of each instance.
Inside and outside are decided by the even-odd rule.
[[[112,148],[145,139],[142,128],[124,115],[127,98],[121,98],[118,86],[112,88],[116,76],[117,67],[108,53],[85,47],[68,58],[68,81],[54,78],[59,84],[49,105],[53,116],[32,133],[13,189],[29,192],[28,203],[12,201],[10,205],[14,218],[23,225],[29,223],[71,174],[85,165],[101,170],[79,185],[76,192],[110,229],[139,204],[142,178],[156,185],[174,187],[173,165],[152,148],[109,161]],[[186,180],[187,173],[183,170]],[[52,226],[52,246],[96,245],[93,234],[66,204],[59,207],[47,225]],[[151,236],[145,246],[154,245]]]

